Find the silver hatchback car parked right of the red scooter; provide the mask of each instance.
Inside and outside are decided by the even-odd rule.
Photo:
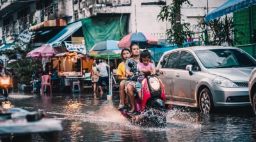
[[[250,106],[248,81],[256,61],[235,47],[204,46],[165,52],[157,68],[163,73],[166,104],[200,107]]]

